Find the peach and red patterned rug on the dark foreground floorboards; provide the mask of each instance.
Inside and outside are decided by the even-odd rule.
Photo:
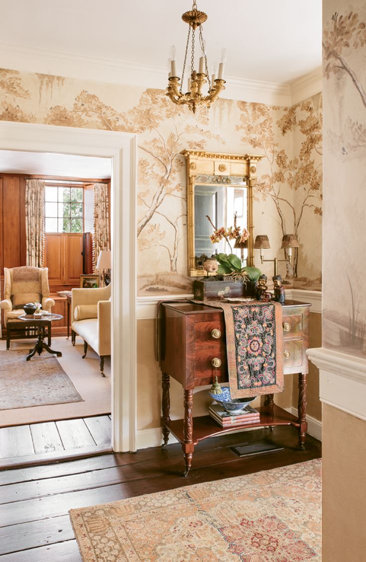
[[[84,562],[321,560],[321,461],[73,509]]]

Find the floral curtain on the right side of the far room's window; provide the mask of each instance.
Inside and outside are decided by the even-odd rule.
[[[95,183],[93,185],[94,196],[94,232],[93,232],[93,271],[95,271],[100,250],[110,250],[109,246],[109,202],[108,184]]]

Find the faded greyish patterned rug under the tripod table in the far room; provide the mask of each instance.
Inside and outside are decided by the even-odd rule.
[[[26,350],[0,351],[0,410],[84,402],[56,357]]]

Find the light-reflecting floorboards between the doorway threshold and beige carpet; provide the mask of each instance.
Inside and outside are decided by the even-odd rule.
[[[111,416],[0,428],[0,470],[111,449]]]

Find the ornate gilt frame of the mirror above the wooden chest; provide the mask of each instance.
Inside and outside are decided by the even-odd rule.
[[[248,203],[248,261],[254,264],[254,217],[253,217],[253,185],[257,179],[257,164],[264,158],[255,154],[219,154],[196,150],[184,150],[181,154],[186,159],[187,173],[187,234],[188,234],[188,275],[202,277],[203,269],[196,268],[195,262],[195,228],[194,228],[194,188],[195,185],[232,185],[231,178],[246,179]],[[197,176],[216,178],[213,181],[196,182]],[[229,181],[227,181],[227,178]],[[237,184],[239,185],[239,184]]]

